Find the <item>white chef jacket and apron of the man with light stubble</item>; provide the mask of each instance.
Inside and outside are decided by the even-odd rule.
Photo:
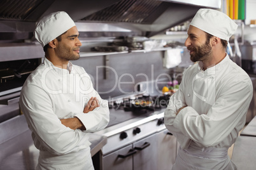
[[[100,107],[84,114],[83,108],[92,96]],[[38,169],[92,166],[89,133],[106,128],[110,112],[108,101],[101,99],[82,67],[69,62],[68,69],[60,69],[45,58],[24,83],[20,108],[40,150]],[[78,117],[86,130],[61,124],[60,119],[71,117]]]

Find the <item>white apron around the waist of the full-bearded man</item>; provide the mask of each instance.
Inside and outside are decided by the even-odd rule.
[[[227,155],[227,148],[199,148],[191,143],[187,149],[179,148],[173,170],[236,170],[236,165]]]

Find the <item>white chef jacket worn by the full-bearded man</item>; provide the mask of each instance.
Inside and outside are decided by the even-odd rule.
[[[228,55],[205,71],[201,68],[203,63],[199,62],[184,72],[179,90],[169,100],[164,124],[186,152],[191,146],[227,150],[245,125],[252,81]]]

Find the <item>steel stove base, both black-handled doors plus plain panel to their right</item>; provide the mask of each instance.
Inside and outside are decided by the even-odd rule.
[[[176,138],[167,129],[103,156],[103,170],[167,170],[176,159]]]

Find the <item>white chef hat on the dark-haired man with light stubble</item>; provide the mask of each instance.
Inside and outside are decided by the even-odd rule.
[[[68,13],[59,11],[44,16],[39,20],[36,24],[36,30],[34,30],[34,36],[44,47],[50,41],[74,26],[75,22],[70,18]]]

